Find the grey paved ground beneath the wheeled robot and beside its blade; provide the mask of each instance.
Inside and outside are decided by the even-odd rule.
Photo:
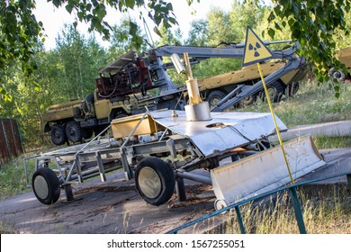
[[[322,152],[327,166],[305,175],[311,180],[344,172],[351,173],[351,148]],[[346,176],[327,183],[347,182]],[[179,202],[175,195],[164,205],[144,202],[133,180],[126,181],[122,172],[107,175],[107,182],[94,181],[74,185],[75,200],[66,201],[64,191],[58,202],[41,204],[34,193],[24,193],[0,202],[1,228],[10,233],[166,233],[175,227],[214,211],[214,193],[210,185],[187,183],[188,200]],[[228,218],[220,214],[186,233],[211,229]]]

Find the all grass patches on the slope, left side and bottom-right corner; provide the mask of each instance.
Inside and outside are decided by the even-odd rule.
[[[328,85],[320,85],[311,80],[301,85],[299,92],[281,103],[274,104],[275,114],[288,127],[302,124],[328,121],[351,120],[351,85],[340,86],[340,97]],[[263,102],[240,111],[269,112],[268,105]],[[351,137],[329,138],[315,137],[317,148],[349,148]],[[26,156],[29,156],[27,154]],[[29,174],[34,171],[34,160],[29,162]],[[31,176],[30,176],[31,179]],[[350,233],[351,230],[351,197],[346,185],[325,185],[324,187],[304,186],[299,191],[302,202],[303,217],[309,233]],[[0,200],[29,192],[26,186],[23,157],[13,159],[0,169]],[[262,205],[246,205],[241,208],[248,233],[298,233],[291,202],[287,194],[279,195]],[[239,233],[238,222],[230,218],[220,233]],[[128,225],[128,218],[123,219]],[[0,230],[3,229],[0,222]]]

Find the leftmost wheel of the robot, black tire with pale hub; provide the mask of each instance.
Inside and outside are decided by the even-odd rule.
[[[49,168],[38,169],[31,177],[31,186],[37,199],[43,204],[53,204],[59,198],[59,181]]]

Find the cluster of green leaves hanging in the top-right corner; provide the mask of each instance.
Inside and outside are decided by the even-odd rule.
[[[337,43],[333,35],[335,31],[347,31],[346,14],[350,11],[349,0],[275,0],[273,12],[268,21],[269,35],[274,38],[275,31],[283,31],[289,26],[291,38],[298,40],[302,46],[303,55],[315,63],[314,73],[319,75],[320,83],[328,80],[325,70],[331,66],[342,68],[336,55]],[[278,22],[276,22],[278,20]],[[336,96],[339,96],[339,86],[335,85]]]

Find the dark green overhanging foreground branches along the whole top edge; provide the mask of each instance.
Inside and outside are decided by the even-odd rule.
[[[197,0],[200,2],[200,0]],[[140,8],[148,11],[148,18],[154,23],[154,31],[160,34],[159,27],[167,29],[176,24],[173,5],[164,0],[48,0],[55,7],[66,8],[69,14],[75,14],[76,21],[89,24],[90,31],[99,31],[103,38],[109,39],[112,26],[105,21],[106,9],[111,7],[120,14],[129,11],[138,12]],[[252,6],[258,6],[259,0],[244,0]],[[190,5],[193,0],[187,0]],[[334,58],[336,43],[333,40],[335,31],[347,31],[345,14],[350,10],[349,0],[273,0],[274,8],[268,17],[269,35],[273,38],[275,31],[289,27],[291,38],[299,40],[304,47],[304,55],[318,63],[319,69],[331,65],[338,65]],[[240,1],[235,1],[240,4]],[[241,3],[242,4],[242,3]],[[33,48],[38,40],[44,40],[42,23],[37,21],[33,14],[35,0],[8,0],[0,2],[0,71],[14,59],[22,62],[24,72],[31,73],[35,64],[31,64]],[[251,9],[253,14],[254,8]],[[222,18],[217,13],[213,18]],[[255,14],[250,17],[255,18]],[[250,22],[250,19],[247,20]],[[348,31],[347,31],[348,32]],[[129,33],[137,46],[142,40],[137,24],[130,20]],[[234,38],[233,38],[234,39]],[[4,93],[4,87],[0,86]]]

